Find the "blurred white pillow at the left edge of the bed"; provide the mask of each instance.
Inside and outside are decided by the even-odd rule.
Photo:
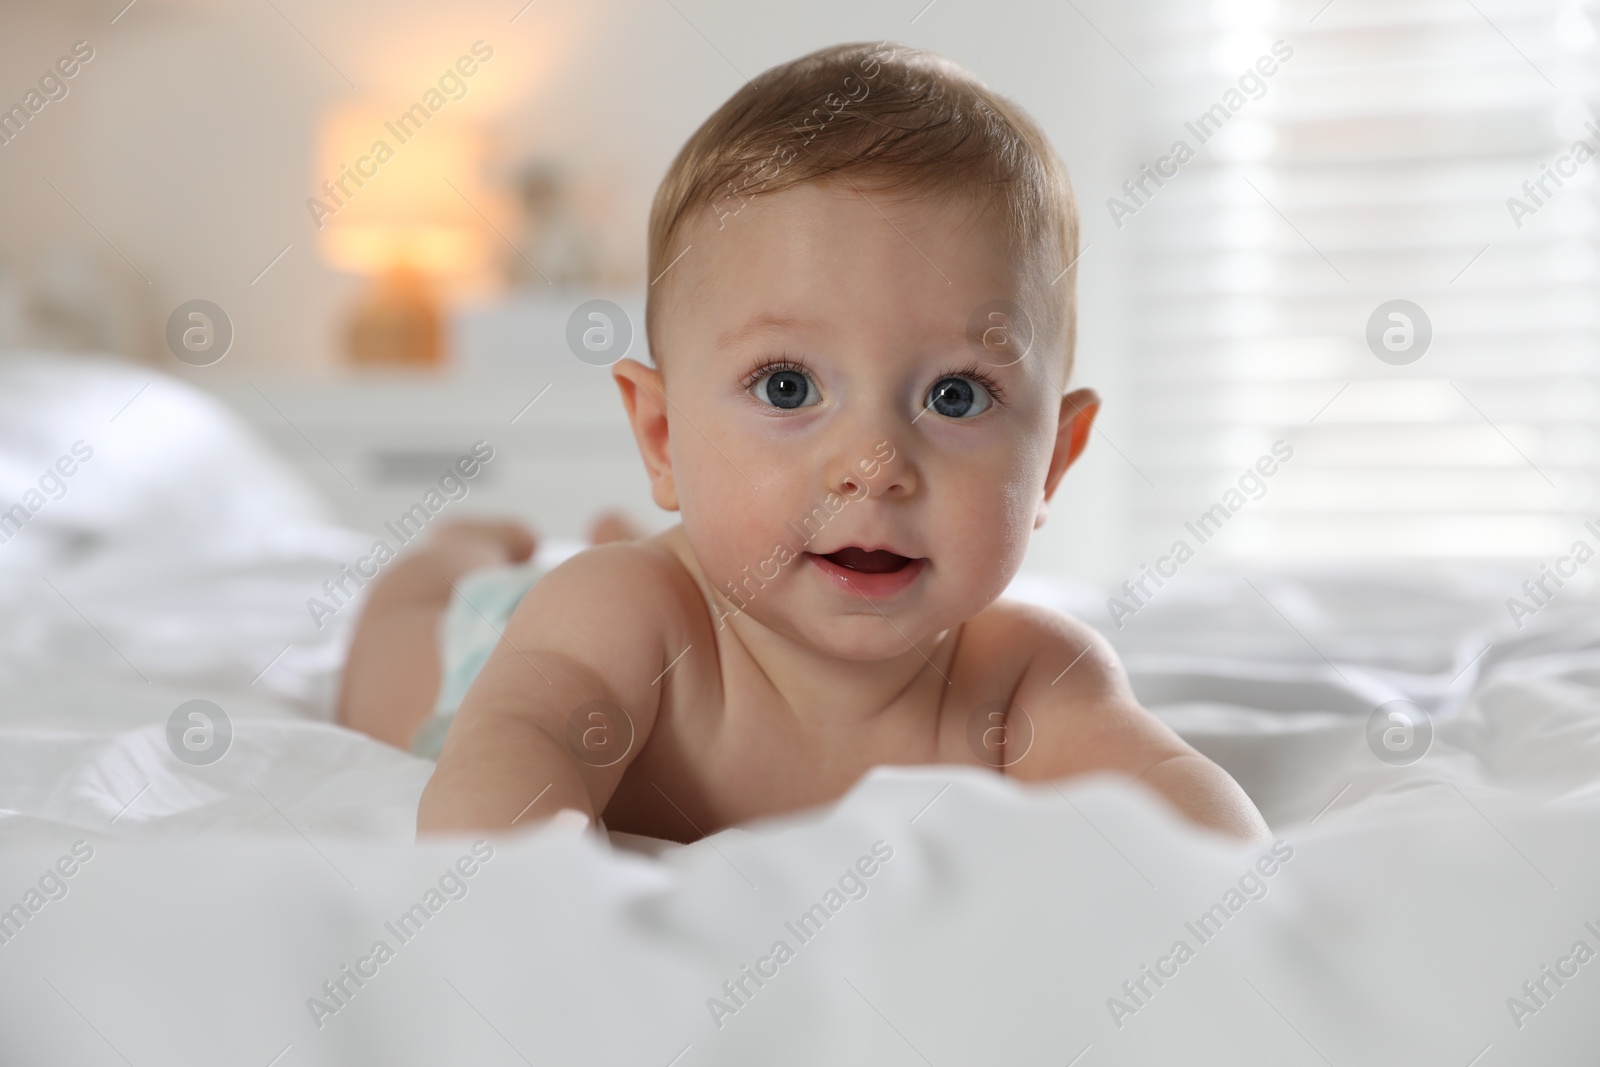
[[[326,504],[227,406],[154,368],[0,354],[0,569],[98,547],[238,558]]]

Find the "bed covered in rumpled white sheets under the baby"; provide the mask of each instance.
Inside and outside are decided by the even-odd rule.
[[[1115,630],[1104,592],[1019,576],[1011,595],[1107,632],[1267,848],[1112,777],[944,766],[693,845],[560,822],[414,843],[430,765],[331,721],[354,611],[318,629],[304,603],[368,537],[224,406],[115,360],[3,355],[13,501],[0,1062],[1600,1049],[1600,601],[1576,589],[1518,627],[1515,568],[1186,571]],[[170,744],[192,701],[226,715],[214,761]]]

